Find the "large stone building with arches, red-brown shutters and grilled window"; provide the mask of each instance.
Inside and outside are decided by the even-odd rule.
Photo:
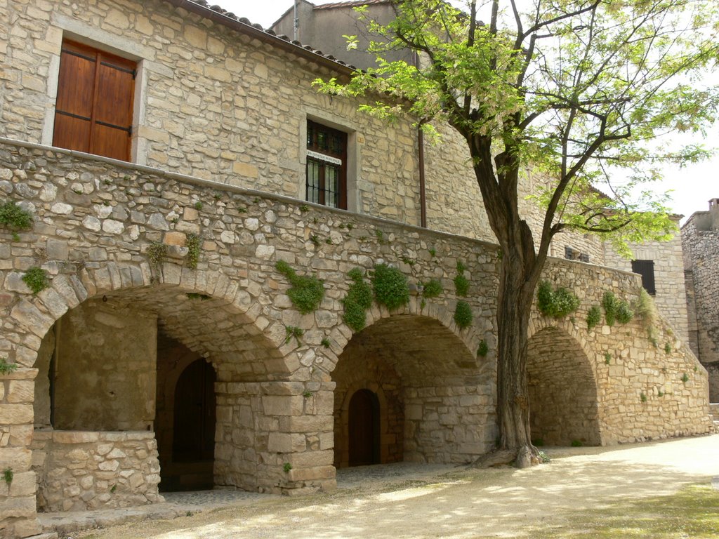
[[[1,536],[160,488],[306,494],[336,466],[493,447],[497,250],[451,137],[422,170],[411,122],[313,91],[344,63],[204,2],[0,2],[0,20],[0,203],[32,215],[0,226]],[[587,327],[605,292],[641,290],[590,262],[546,267],[582,304],[533,313],[536,436],[709,432],[706,371],[666,319],[660,346],[640,320]],[[384,263],[413,293],[353,330],[349,273]],[[292,271],[321,280],[317,308]]]

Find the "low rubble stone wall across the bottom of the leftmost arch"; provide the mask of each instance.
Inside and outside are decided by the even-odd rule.
[[[85,511],[162,502],[155,433],[36,430],[37,510]]]

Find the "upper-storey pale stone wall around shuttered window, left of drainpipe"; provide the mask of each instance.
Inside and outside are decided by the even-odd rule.
[[[312,81],[328,70],[160,0],[3,9],[0,136],[52,142],[60,45],[70,37],[138,61],[134,162],[304,198],[311,118],[349,134],[350,209],[418,224],[411,121],[387,126],[357,101],[319,94]]]

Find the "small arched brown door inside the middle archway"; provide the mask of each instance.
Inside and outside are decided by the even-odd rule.
[[[380,463],[380,402],[370,390],[349,400],[349,466]]]

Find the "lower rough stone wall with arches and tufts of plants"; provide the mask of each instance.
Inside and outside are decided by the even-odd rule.
[[[0,229],[8,246],[0,270],[0,356],[19,365],[15,376],[34,378],[33,366],[45,349],[42,338],[68,311],[99,300],[103,309],[118,313],[153,313],[163,333],[214,365],[215,484],[287,494],[333,488],[334,398],[345,369],[338,365],[353,346],[398,374],[404,459],[470,461],[491,445],[495,246],[32,144],[1,142],[0,178],[8,178],[0,183],[6,198],[33,214],[32,229],[19,231],[17,238]],[[188,234],[201,238],[196,268],[188,262]],[[156,262],[148,254],[153,244],[166,247]],[[453,320],[458,257],[467,267],[470,292],[464,299],[474,315],[466,329]],[[288,281],[275,268],[280,259],[300,275],[324,282],[318,310],[303,315],[293,307]],[[354,333],[342,319],[342,299],[351,283],[347,273],[354,267],[371,270],[379,262],[398,267],[417,295],[393,312],[373,304],[367,327]],[[34,265],[50,277],[50,287],[37,295],[10,277]],[[711,428],[706,373],[676,343],[669,343],[674,345],[669,354],[664,351],[669,339],[664,326],[656,333],[658,349],[638,323],[591,332],[582,326],[587,309],[606,290],[635,301],[636,275],[552,260],[545,277],[582,299],[580,311],[561,321],[561,328],[590,362],[601,443]],[[418,285],[431,278],[444,290],[436,298],[422,298]],[[533,333],[550,322],[560,324],[535,318]],[[300,328],[301,335],[294,338],[288,328]],[[106,331],[93,328],[93,333]],[[127,337],[127,327],[122,333]],[[482,340],[489,351],[478,357]],[[622,363],[606,365],[607,352]],[[22,432],[32,432],[33,391],[28,389],[20,407],[0,402],[2,428],[20,425]],[[7,439],[0,460],[18,459],[17,452],[24,452],[27,466],[22,459],[14,466],[32,473],[29,438]],[[3,515],[22,499],[10,494],[2,502]],[[32,513],[22,518],[19,525],[32,525]]]

